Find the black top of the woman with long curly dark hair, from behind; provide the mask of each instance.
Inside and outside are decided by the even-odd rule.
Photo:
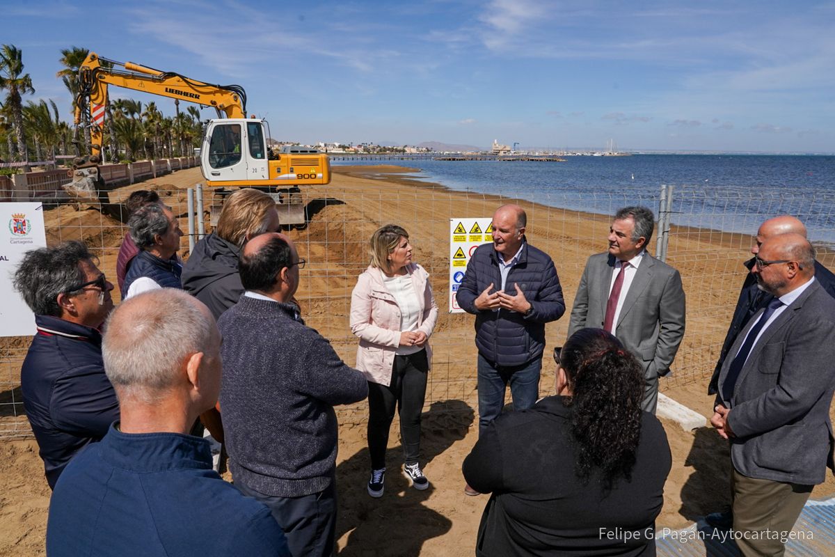
[[[672,463],[664,428],[642,414],[631,479],[606,493],[600,470],[588,484],[574,473],[572,412],[563,397],[545,397],[502,414],[479,436],[463,463],[467,483],[492,493],[477,555],[655,555],[655,517]]]

